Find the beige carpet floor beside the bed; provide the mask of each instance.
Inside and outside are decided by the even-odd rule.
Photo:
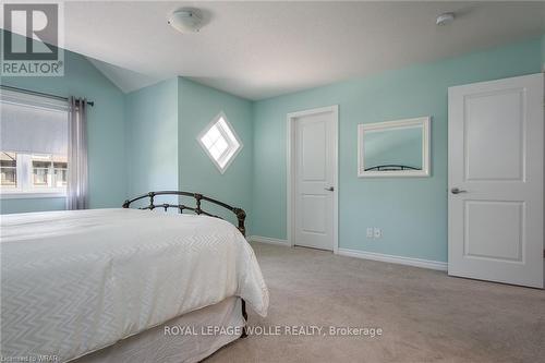
[[[250,336],[206,362],[545,362],[545,292],[253,244],[270,291],[250,325],[380,327],[380,337]]]

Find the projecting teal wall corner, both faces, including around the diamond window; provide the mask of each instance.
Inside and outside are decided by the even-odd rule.
[[[184,77],[174,77],[126,95],[125,106],[130,196],[157,190],[182,190],[250,211],[251,101]],[[221,111],[244,145],[223,174],[197,142],[201,132]],[[194,201],[184,199],[183,203],[190,205]],[[233,214],[205,204],[205,210],[234,221]]]

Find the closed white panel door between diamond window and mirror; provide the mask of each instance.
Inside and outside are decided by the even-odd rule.
[[[337,173],[337,108],[293,117],[293,244],[334,250]]]

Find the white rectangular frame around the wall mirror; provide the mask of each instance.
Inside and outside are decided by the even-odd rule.
[[[415,119],[385,121],[376,123],[361,123],[358,125],[358,177],[359,178],[384,178],[384,177],[429,177],[429,117]],[[393,171],[365,171],[364,135],[367,131],[407,129],[422,126],[422,170],[393,170]]]

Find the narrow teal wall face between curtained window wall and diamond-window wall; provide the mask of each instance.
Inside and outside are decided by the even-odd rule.
[[[178,80],[125,96],[129,196],[178,190]]]

